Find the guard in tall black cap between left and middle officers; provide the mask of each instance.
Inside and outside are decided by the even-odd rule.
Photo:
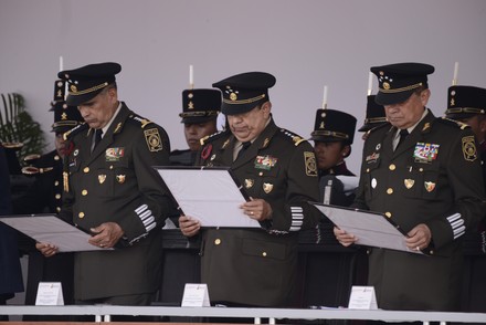
[[[201,139],[218,132],[216,119],[221,109],[219,90],[184,90],[182,113],[187,150],[170,153],[170,165],[193,166],[196,154],[201,148]]]

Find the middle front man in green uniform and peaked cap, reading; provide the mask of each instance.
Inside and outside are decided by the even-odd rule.
[[[241,209],[262,228],[203,231],[201,276],[212,303],[285,306],[296,280],[298,231],[318,218],[307,203],[319,192],[313,147],[275,125],[268,98],[274,84],[264,72],[213,84],[223,93],[230,129],[204,140],[197,165],[231,167],[252,198]],[[200,224],[189,217],[179,223],[192,237]]]

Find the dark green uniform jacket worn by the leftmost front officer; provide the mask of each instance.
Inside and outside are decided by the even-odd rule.
[[[89,230],[116,222],[125,232],[113,251],[75,256],[75,298],[91,300],[155,292],[161,274],[161,227],[170,201],[152,166],[169,164],[163,128],[123,104],[91,153],[93,130],[74,136],[70,192],[61,216]]]

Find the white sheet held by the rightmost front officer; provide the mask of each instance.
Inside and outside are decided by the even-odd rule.
[[[405,235],[384,214],[317,202],[310,203],[339,229],[355,234],[358,238],[357,244],[423,254],[421,251],[410,250],[406,247]]]

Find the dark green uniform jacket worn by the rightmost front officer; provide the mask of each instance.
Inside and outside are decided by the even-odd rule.
[[[474,136],[431,111],[393,151],[397,128],[371,132],[355,206],[384,212],[409,232],[425,223],[430,256],[385,249],[369,255],[369,285],[384,310],[454,311],[461,297],[461,238],[484,213]]]

